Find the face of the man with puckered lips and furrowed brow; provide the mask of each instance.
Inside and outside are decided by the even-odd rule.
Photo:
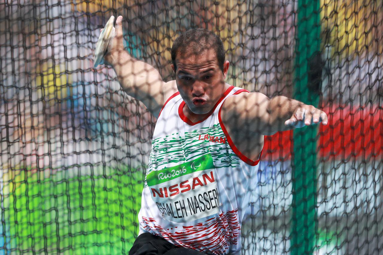
[[[229,61],[222,72],[214,49],[208,49],[198,55],[178,54],[175,63],[177,69],[172,69],[183,101],[192,113],[208,113],[226,90]]]

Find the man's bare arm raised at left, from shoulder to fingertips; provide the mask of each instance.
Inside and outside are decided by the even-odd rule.
[[[157,118],[165,100],[177,92],[177,85],[175,81],[165,83],[154,67],[128,54],[123,45],[121,21],[122,16],[119,16],[104,62],[113,67],[123,90],[144,103]]]

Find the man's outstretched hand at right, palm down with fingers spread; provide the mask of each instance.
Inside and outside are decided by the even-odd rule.
[[[290,119],[285,121],[286,126],[304,127],[321,123],[327,125],[327,114],[312,105],[301,105],[293,113]]]

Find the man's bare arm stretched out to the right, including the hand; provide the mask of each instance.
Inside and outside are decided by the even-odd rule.
[[[309,126],[322,122],[327,125],[327,114],[312,105],[262,93],[240,93],[229,97],[223,107],[223,119],[241,132],[272,135],[278,131]]]

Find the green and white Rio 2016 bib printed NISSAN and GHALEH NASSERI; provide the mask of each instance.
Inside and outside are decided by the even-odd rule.
[[[162,216],[188,222],[218,213],[216,170],[209,154],[146,176],[151,196]]]

